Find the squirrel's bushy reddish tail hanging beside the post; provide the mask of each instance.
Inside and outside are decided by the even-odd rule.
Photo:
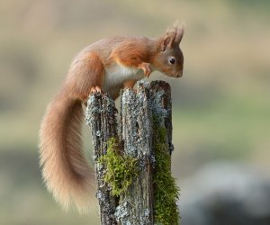
[[[94,171],[81,149],[83,109],[79,101],[58,94],[49,103],[40,128],[40,166],[55,199],[67,210],[88,211],[94,197]]]

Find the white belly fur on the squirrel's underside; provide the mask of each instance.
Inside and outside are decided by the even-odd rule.
[[[119,64],[115,64],[112,67],[105,69],[104,85],[105,91],[109,91],[112,86],[119,86],[125,80],[129,79],[141,79],[143,78],[143,71],[133,67],[122,67]]]

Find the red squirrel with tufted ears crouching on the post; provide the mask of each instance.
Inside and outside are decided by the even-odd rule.
[[[40,166],[49,192],[65,208],[91,208],[94,172],[81,149],[82,104],[94,92],[116,99],[121,88],[133,85],[153,70],[166,76],[183,75],[179,48],[184,26],[157,38],[115,37],[99,40],[74,58],[64,84],[47,108],[40,127]]]

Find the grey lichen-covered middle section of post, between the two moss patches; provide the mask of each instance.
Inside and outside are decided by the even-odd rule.
[[[137,93],[121,94],[121,139],[124,154],[137,157],[139,173],[120,197],[116,220],[120,224],[154,224],[152,198],[152,124],[149,84],[139,83]]]

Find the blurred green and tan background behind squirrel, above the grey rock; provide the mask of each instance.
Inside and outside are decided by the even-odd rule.
[[[65,213],[44,188],[42,114],[80,49],[115,35],[157,36],[177,19],[186,23],[184,76],[152,79],[172,85],[180,187],[216,160],[270,176],[269,12],[264,0],[1,1],[0,224],[98,224],[97,210]]]

